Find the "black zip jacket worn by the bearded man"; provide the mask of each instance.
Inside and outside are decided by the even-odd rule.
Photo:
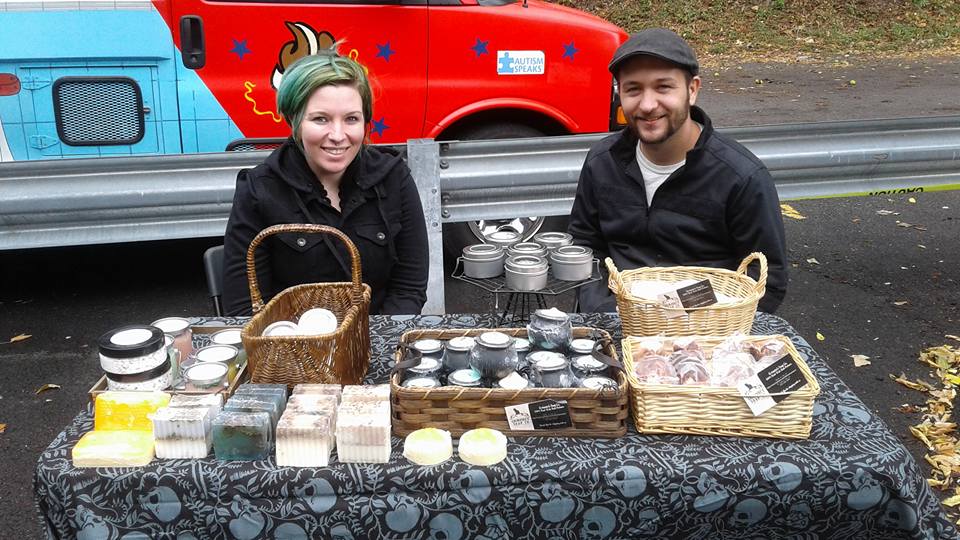
[[[684,166],[657,189],[648,207],[629,129],[595,145],[580,173],[568,231],[617,268],[708,266],[735,270],[748,254],[767,258],[767,290],[759,309],[772,313],[787,289],[786,245],[780,201],[763,163],[736,141],[703,125]],[[756,277],[756,269],[751,275]],[[613,311],[616,300],[600,282],[580,289],[581,311]]]

